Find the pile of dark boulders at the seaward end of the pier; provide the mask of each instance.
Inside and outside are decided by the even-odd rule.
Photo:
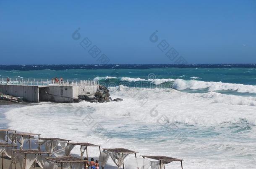
[[[112,101],[112,98],[110,97],[109,90],[105,86],[101,86],[101,85],[99,85],[99,88],[95,92],[94,95],[93,94],[91,94],[91,95],[79,95],[78,99],[84,100],[84,101],[89,101],[91,103],[104,103],[104,102],[111,102]],[[123,99],[122,98],[116,98],[113,101],[123,101]],[[74,102],[75,102],[75,100],[74,100]]]

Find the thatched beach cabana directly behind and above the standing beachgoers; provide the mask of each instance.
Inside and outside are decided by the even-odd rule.
[[[70,155],[70,152],[71,150],[74,148],[74,146],[78,145],[80,146],[80,157],[81,159],[83,158],[83,155],[84,155],[84,151],[86,151],[86,157],[88,159],[88,147],[99,147],[99,154],[100,154],[100,147],[99,145],[95,145],[95,144],[91,144],[91,143],[73,143],[73,142],[70,142],[68,143],[68,145],[70,146],[70,149],[66,149],[66,155]]]

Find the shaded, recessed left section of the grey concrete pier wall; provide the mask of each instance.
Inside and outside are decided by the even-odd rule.
[[[0,92],[16,97],[23,97],[29,102],[39,102],[38,86],[0,85]]]

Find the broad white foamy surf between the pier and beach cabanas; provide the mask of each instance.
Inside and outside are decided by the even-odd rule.
[[[110,91],[124,101],[38,103],[5,115],[9,127],[19,131],[182,158],[184,168],[256,166],[255,98],[125,86]],[[92,152],[99,155],[97,149]]]

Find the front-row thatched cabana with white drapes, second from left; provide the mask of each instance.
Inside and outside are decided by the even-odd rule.
[[[46,157],[49,157],[49,154],[50,152],[38,149],[13,150],[9,169],[12,169],[12,164],[17,163],[20,164],[21,169],[29,169],[33,163],[35,166],[36,162],[41,168],[43,168]]]

